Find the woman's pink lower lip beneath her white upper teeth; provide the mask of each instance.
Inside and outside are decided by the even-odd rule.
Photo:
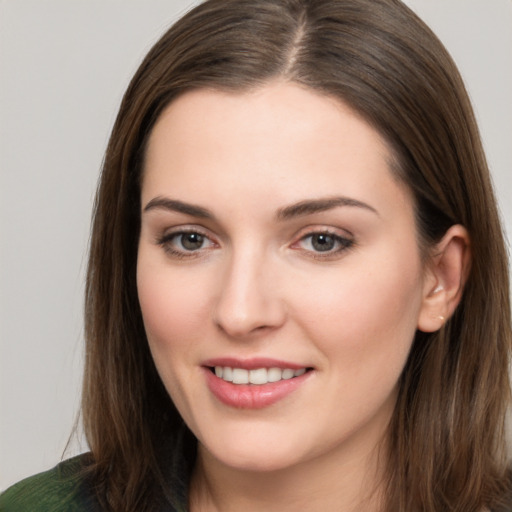
[[[237,409],[263,409],[287,397],[311,375],[283,379],[268,384],[233,384],[217,377],[209,368],[203,368],[206,382],[213,395],[223,404]]]

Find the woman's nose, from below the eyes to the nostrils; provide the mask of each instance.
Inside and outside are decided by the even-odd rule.
[[[245,338],[282,326],[286,307],[279,269],[256,251],[233,254],[223,269],[214,322],[232,338]]]

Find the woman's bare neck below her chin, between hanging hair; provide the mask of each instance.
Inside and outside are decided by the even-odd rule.
[[[380,456],[379,456],[380,454]],[[191,512],[382,510],[382,443],[364,453],[319,457],[274,471],[232,468],[201,444],[190,487]]]

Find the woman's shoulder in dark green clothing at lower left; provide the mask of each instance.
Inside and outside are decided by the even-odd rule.
[[[0,495],[0,511],[99,511],[85,477],[87,459],[87,454],[79,455],[18,482]]]

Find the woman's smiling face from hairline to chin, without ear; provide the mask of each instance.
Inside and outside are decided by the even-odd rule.
[[[291,84],[189,92],[160,117],[138,293],[200,454],[272,470],[382,438],[426,288],[390,159],[350,108]]]

